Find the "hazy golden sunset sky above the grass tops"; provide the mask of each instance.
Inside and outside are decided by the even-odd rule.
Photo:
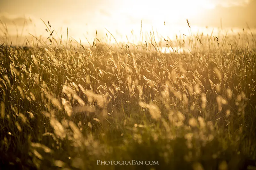
[[[75,39],[104,37],[107,28],[116,36],[130,35],[131,30],[149,31],[152,26],[164,35],[187,31],[186,18],[193,29],[209,27],[256,27],[256,0],[0,0],[0,20],[10,35],[48,34],[46,23],[60,34],[67,32]],[[165,25],[164,25],[165,21]],[[3,31],[3,26],[0,25]],[[60,29],[62,28],[62,30]],[[0,30],[0,31],[1,31]],[[162,31],[162,32],[161,32]],[[3,35],[1,33],[1,35]],[[131,35],[130,35],[131,36]],[[128,36],[129,37],[129,36]]]

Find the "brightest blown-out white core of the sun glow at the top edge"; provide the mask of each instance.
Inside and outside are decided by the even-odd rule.
[[[214,8],[208,0],[131,0],[119,9],[127,16],[145,18],[153,24],[160,20],[177,22],[184,18],[193,18],[202,11]]]

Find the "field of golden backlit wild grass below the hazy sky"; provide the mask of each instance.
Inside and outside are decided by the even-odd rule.
[[[255,36],[183,38],[1,42],[0,169],[255,169]]]

